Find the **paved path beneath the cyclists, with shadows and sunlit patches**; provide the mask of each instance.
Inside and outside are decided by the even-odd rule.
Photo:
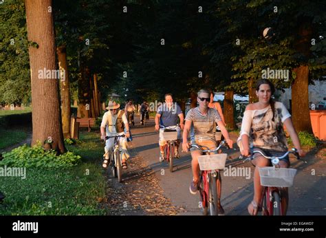
[[[189,193],[189,184],[192,179],[191,157],[189,153],[181,153],[182,157],[175,160],[173,173],[169,172],[166,162],[159,162],[158,132],[154,130],[153,119],[149,124],[140,126],[135,118],[136,126],[132,128],[133,153],[140,155],[144,162],[155,172],[164,195],[171,199],[175,206],[185,208],[180,215],[201,215],[198,208],[199,195]],[[232,138],[235,139],[235,138]],[[181,148],[180,148],[181,151]],[[250,173],[226,174],[222,173],[222,197],[226,215],[248,215],[247,206],[252,199],[252,175],[254,167],[250,162],[243,164],[239,157],[239,150],[226,150],[228,160],[226,166]],[[326,215],[326,161],[314,158],[310,154],[305,160],[296,161],[291,158],[292,167],[298,169],[294,186],[290,188],[290,208],[288,215]],[[235,170],[234,169],[234,170]]]

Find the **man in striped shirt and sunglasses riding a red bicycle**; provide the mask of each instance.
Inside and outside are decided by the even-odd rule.
[[[224,127],[224,123],[221,120],[221,116],[216,109],[208,107],[210,102],[210,92],[206,89],[201,89],[197,93],[197,102],[199,107],[192,108],[186,115],[186,122],[184,125],[184,133],[182,135],[182,149],[188,151],[190,145],[188,143],[188,134],[191,134],[191,144],[197,144],[199,147],[206,147],[208,149],[216,149],[217,143],[215,140],[215,125],[217,124],[221,129],[221,133],[226,138],[228,146],[232,148],[232,140],[228,135],[228,131]],[[205,148],[205,149],[206,149]],[[202,155],[198,149],[191,149],[191,167],[193,170],[193,181],[190,185],[190,192],[196,194],[198,192],[199,183],[199,164],[198,156]],[[219,186],[219,191],[221,184]],[[219,193],[221,194],[221,193]],[[219,197],[220,198],[220,197]],[[224,209],[221,206],[220,199],[218,201],[219,214],[224,214]]]

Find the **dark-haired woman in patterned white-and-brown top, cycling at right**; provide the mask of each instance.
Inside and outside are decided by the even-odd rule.
[[[250,104],[246,107],[241,125],[241,154],[248,156],[249,139],[252,140],[254,150],[260,150],[268,156],[283,155],[287,149],[283,124],[290,133],[294,147],[298,150],[300,156],[304,156],[305,152],[301,149],[298,135],[292,125],[291,115],[281,102],[275,102],[272,99],[275,88],[269,80],[259,80],[256,87],[256,95],[258,102]],[[259,153],[255,153],[252,164],[256,166],[254,169],[254,198],[248,205],[250,215],[257,215],[262,204],[259,204],[263,187],[261,186],[258,167],[269,166],[270,160],[264,158]],[[279,166],[287,168],[290,166],[290,160],[286,158],[280,160]],[[287,210],[287,188],[282,188],[283,199],[282,204]]]

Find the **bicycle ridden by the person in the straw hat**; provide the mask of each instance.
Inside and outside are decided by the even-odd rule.
[[[114,145],[109,153],[109,166],[111,167],[111,173],[113,177],[118,177],[118,182],[122,181],[122,162],[121,162],[121,152],[122,150],[118,144],[118,138],[124,137],[125,135],[121,136],[106,136],[105,140],[109,140],[109,138],[114,138]],[[103,155],[105,157],[105,155]]]

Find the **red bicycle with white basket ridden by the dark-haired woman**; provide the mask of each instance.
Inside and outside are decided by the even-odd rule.
[[[263,186],[263,193],[259,204],[261,204],[262,215],[286,215],[282,207],[282,193],[279,188],[287,188],[293,185],[296,169],[279,168],[279,160],[285,158],[290,153],[296,156],[299,160],[300,156],[296,149],[287,151],[282,156],[267,156],[261,151],[250,152],[251,156],[246,160],[253,160],[253,154],[260,153],[264,158],[270,160],[273,166],[266,166],[259,168],[259,176],[261,178],[261,186]],[[243,162],[246,162],[244,160]]]

